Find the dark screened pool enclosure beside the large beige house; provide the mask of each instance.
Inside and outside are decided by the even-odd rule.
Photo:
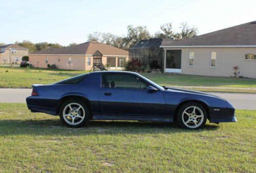
[[[173,39],[167,38],[151,38],[139,40],[137,44],[129,49],[130,60],[139,59],[140,63],[144,67],[150,67],[152,62],[157,61],[158,68],[163,71],[163,48],[159,46],[161,44],[168,44],[173,42]]]

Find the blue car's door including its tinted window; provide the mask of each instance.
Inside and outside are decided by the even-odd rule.
[[[165,100],[161,91],[149,91],[149,83],[130,73],[102,73],[99,105],[101,116],[161,116]]]

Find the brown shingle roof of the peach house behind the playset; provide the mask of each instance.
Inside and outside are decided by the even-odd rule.
[[[96,51],[101,52],[103,55],[116,55],[116,56],[128,56],[128,51],[102,44],[97,41],[84,42],[79,45],[66,47],[66,48],[53,48],[45,49],[30,54],[53,54],[53,55],[92,55]]]

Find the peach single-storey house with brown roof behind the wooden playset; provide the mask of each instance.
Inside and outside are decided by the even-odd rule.
[[[102,63],[110,64],[110,69],[123,69],[128,60],[128,52],[97,41],[84,42],[72,47],[40,50],[29,54],[29,62],[36,68],[47,68],[55,64],[58,69],[91,70],[93,54],[99,51]]]

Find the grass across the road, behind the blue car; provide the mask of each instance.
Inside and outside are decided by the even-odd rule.
[[[7,72],[8,71],[8,72]],[[37,68],[0,67],[0,88],[31,88],[34,83],[48,84],[88,71],[50,70]],[[249,88],[256,88],[256,79],[232,77],[208,77],[181,74],[142,73],[143,76],[161,85],[200,86],[200,87],[231,87],[248,88],[247,90],[233,90],[233,92],[253,92]],[[224,91],[194,89],[200,91]],[[228,90],[231,91],[231,90]]]

